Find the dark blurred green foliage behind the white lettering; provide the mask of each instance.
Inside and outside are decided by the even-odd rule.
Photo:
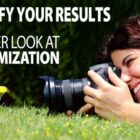
[[[42,92],[36,78],[40,75],[52,75],[58,79],[85,77],[88,67],[95,64],[95,58],[102,43],[119,25],[119,22],[129,16],[140,14],[139,0],[1,0],[0,6],[93,8],[109,6],[111,8],[111,20],[107,23],[19,23],[16,15],[12,23],[1,22],[0,35],[60,36],[59,65],[0,65],[0,85],[7,86],[11,91],[10,96],[5,96],[4,102],[13,105],[39,105],[41,103]]]

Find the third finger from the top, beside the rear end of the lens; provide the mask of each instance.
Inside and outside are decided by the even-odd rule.
[[[84,86],[83,91],[86,95],[91,96],[93,98],[99,98],[100,96],[100,93],[98,92],[98,90],[90,86]]]

